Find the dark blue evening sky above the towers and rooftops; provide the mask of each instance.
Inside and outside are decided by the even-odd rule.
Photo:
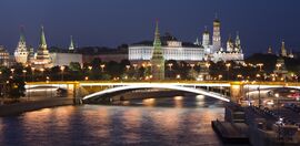
[[[0,44],[12,52],[24,25],[37,48],[43,24],[49,46],[67,48],[71,34],[79,46],[117,46],[152,39],[156,19],[161,33],[194,41],[218,12],[223,44],[239,31],[248,54],[279,50],[282,39],[300,51],[299,8],[299,0],[1,0]]]

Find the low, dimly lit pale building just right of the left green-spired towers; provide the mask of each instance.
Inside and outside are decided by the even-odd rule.
[[[76,53],[50,53],[53,66],[70,65],[71,62],[78,62],[80,65],[82,62],[82,54]]]

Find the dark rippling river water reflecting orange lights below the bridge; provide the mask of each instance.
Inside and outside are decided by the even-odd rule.
[[[203,96],[44,108],[1,117],[0,145],[221,145],[210,123],[223,114]]]

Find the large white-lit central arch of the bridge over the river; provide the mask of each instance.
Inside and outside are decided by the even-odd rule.
[[[90,95],[87,95],[83,97],[84,100],[93,98],[97,96],[114,93],[114,92],[120,92],[120,91],[129,91],[129,90],[142,90],[142,88],[164,88],[164,90],[177,90],[177,91],[183,91],[183,92],[190,92],[190,93],[196,93],[196,94],[201,94],[201,95],[207,95],[209,97],[213,97],[217,100],[221,100],[224,102],[230,102],[230,100],[221,94],[214,93],[214,92],[209,92],[202,88],[194,88],[194,87],[186,87],[186,86],[179,86],[179,85],[168,85],[168,84],[137,84],[137,85],[127,85],[127,86],[117,86],[112,88],[108,88],[104,91],[100,91]]]

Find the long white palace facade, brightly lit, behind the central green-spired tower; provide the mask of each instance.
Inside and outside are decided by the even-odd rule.
[[[176,61],[201,61],[204,58],[204,49],[201,46],[182,46],[179,41],[168,41],[168,45],[162,46],[164,60]],[[150,60],[153,46],[132,45],[129,46],[128,58],[130,61]]]

